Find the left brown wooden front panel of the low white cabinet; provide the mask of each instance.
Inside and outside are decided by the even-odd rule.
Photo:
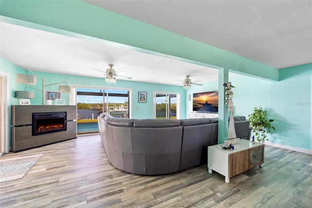
[[[233,177],[249,169],[249,150],[229,155],[229,177]]]

